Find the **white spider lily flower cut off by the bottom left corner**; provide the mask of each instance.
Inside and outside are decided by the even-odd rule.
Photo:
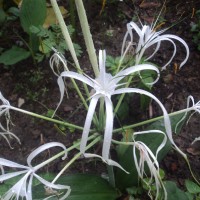
[[[11,167],[11,168],[19,168],[21,171],[18,172],[10,172],[10,173],[3,173],[0,175],[0,182],[6,181],[10,178],[23,175],[22,178],[15,183],[14,186],[12,186],[3,196],[2,199],[4,200],[10,200],[10,199],[19,199],[20,197],[26,200],[32,200],[32,180],[35,177],[37,180],[39,180],[42,184],[45,185],[47,188],[51,189],[57,189],[57,190],[67,190],[66,194],[60,198],[62,200],[66,199],[66,197],[70,193],[70,187],[60,184],[54,184],[51,182],[46,181],[42,177],[38,176],[36,174],[36,171],[46,165],[47,163],[43,162],[38,164],[37,166],[32,166],[32,160],[41,152],[45,151],[46,149],[49,149],[51,147],[61,147],[66,151],[66,147],[59,143],[59,142],[50,142],[47,144],[44,144],[40,146],[39,148],[35,149],[27,158],[27,166],[20,165],[18,163],[6,160],[4,158],[0,158],[0,166],[5,167]],[[65,155],[63,159],[65,159],[67,156],[67,153],[65,152]]]

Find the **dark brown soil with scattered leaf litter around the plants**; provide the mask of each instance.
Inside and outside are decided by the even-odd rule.
[[[151,22],[152,13],[155,11],[159,13],[161,8],[159,3],[147,2],[145,4],[145,2],[143,1],[142,4],[141,1],[135,1],[135,7],[133,3],[128,1],[109,4],[105,6],[102,15],[99,15],[101,4],[88,5],[87,9],[93,10],[89,14],[89,23],[94,35],[96,49],[106,48],[107,54],[120,55],[126,23],[131,20],[133,15],[137,12],[140,19]],[[167,1],[166,10],[162,14],[166,20],[165,27],[178,22],[168,30],[168,33],[183,38],[190,48],[190,57],[187,63],[176,71],[175,66],[179,65],[185,57],[185,49],[178,45],[177,55],[167,70],[161,72],[161,80],[153,90],[153,93],[165,105],[168,112],[186,108],[189,95],[194,97],[195,102],[200,100],[200,52],[192,41],[193,34],[190,31],[190,24],[195,21],[195,16],[192,16],[193,8],[195,10],[200,9],[199,3],[191,1],[183,4],[182,1]],[[112,34],[108,36],[105,32]],[[82,39],[81,45],[83,45]],[[84,46],[82,48],[84,50]],[[171,46],[163,45],[153,62],[162,65],[172,55],[172,51]],[[86,73],[90,72],[85,53],[80,58],[80,63]],[[46,115],[50,109],[55,109],[59,102],[56,77],[50,70],[48,60],[39,63],[37,67],[33,65],[31,58],[11,67],[1,65],[0,91],[10,101],[11,105],[18,107],[21,100],[24,100],[25,102],[20,105],[20,108],[39,114]],[[57,115],[67,121],[83,125],[85,113],[82,112],[82,109],[75,112],[78,107],[78,96],[73,93],[72,88],[69,89],[68,94],[69,98],[65,97]],[[153,110],[153,116],[156,116],[156,114],[157,112]],[[63,135],[57,125],[23,113],[11,111],[11,117],[14,124],[11,131],[20,138],[21,144],[12,141],[13,149],[9,149],[7,143],[0,138],[0,156],[21,164],[25,164],[26,157],[41,144],[60,141],[69,146],[74,139],[81,135],[81,132],[71,133],[68,129],[63,130],[65,133]],[[199,129],[199,115],[195,114],[188,124],[184,125],[181,133],[174,135],[177,146],[187,153],[191,167],[197,177],[200,175],[200,144],[197,143],[192,146],[191,143],[196,137],[200,136]],[[52,153],[53,151],[49,151],[44,156],[49,157]],[[104,170],[103,166],[97,167],[95,170],[93,167],[90,162],[81,160],[73,165],[68,172],[88,172],[92,169],[92,172],[101,173]],[[185,179],[191,178],[185,161],[173,151],[169,152],[162,161],[161,167],[165,170],[167,179],[175,180],[180,187],[183,187]],[[45,170],[57,171],[61,168],[62,166],[57,164],[48,166]]]

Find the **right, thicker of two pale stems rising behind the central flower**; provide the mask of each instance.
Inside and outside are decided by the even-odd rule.
[[[86,15],[86,12],[85,12],[83,1],[82,0],[75,0],[75,3],[76,3],[77,11],[78,11],[78,16],[79,16],[79,20],[80,20],[80,24],[81,24],[81,28],[82,28],[87,52],[88,52],[88,55],[89,55],[89,59],[90,59],[90,62],[92,64],[95,76],[97,77],[98,74],[99,74],[99,69],[98,69],[96,50],[94,48],[92,35],[90,33],[90,27],[89,27],[89,24],[88,24],[87,15]]]

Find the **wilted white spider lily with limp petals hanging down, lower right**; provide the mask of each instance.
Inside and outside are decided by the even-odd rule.
[[[134,136],[139,135],[139,134],[151,134],[151,133],[163,134],[163,136],[164,136],[163,141],[157,148],[156,155],[154,155],[153,152],[149,149],[149,147],[146,146],[143,142],[135,141],[135,138],[134,138]],[[145,183],[147,185],[150,185],[152,183],[152,179],[154,179],[155,185],[156,185],[156,199],[158,198],[160,188],[162,188],[164,191],[164,196],[165,196],[165,200],[166,200],[167,193],[166,193],[165,187],[162,183],[162,180],[161,180],[161,177],[159,174],[159,163],[157,161],[158,153],[165,146],[165,144],[167,142],[166,134],[160,130],[135,132],[133,134],[133,140],[134,140],[133,157],[134,157],[136,170],[138,172],[138,176],[144,181],[144,175],[146,175],[146,173],[144,171],[144,166],[146,163],[149,168],[149,171],[150,171],[150,180],[148,182],[145,181]],[[139,156],[136,155],[136,149],[139,150]],[[139,157],[139,161],[138,161],[138,157]]]

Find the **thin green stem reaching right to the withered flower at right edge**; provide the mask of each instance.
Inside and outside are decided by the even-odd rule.
[[[190,112],[192,110],[193,110],[193,107],[186,108],[186,109],[183,109],[183,110],[179,110],[179,111],[170,113],[169,116],[172,117],[172,116],[175,116],[175,115],[178,115],[178,114],[181,114],[181,113]],[[160,117],[155,117],[153,119],[145,120],[143,122],[132,124],[132,125],[129,125],[129,126],[123,126],[122,128],[117,128],[117,129],[113,130],[113,133],[123,132],[126,129],[132,129],[132,128],[136,128],[138,126],[143,126],[143,125],[155,122],[157,120],[161,120],[163,118],[164,118],[163,116],[160,116]]]

